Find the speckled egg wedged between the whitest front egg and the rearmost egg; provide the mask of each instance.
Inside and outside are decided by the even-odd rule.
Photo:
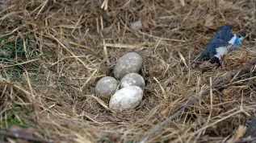
[[[140,88],[145,88],[145,80],[143,77],[137,73],[129,73],[125,75],[120,81],[120,87],[128,87],[128,86],[137,86]]]

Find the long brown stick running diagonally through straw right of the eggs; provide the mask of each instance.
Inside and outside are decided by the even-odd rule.
[[[208,95],[208,92],[211,90],[211,88],[215,88],[218,84],[225,82],[225,80],[231,79],[232,76],[235,76],[238,72],[246,72],[250,71],[251,67],[254,67],[254,64],[256,63],[256,59],[253,59],[250,61],[250,63],[247,63],[245,66],[239,68],[238,70],[231,71],[225,76],[221,76],[212,84],[212,86],[206,88],[204,92],[202,92],[197,98],[191,99],[187,101],[187,104],[184,104],[181,108],[178,108],[176,112],[174,112],[174,115],[170,116],[166,121],[163,121],[149,132],[148,135],[143,137],[141,141],[138,141],[138,143],[145,143],[149,139],[149,137],[153,137],[158,130],[162,129],[163,126],[169,124],[171,121],[173,121],[180,113],[183,112],[184,109],[187,109],[187,107],[197,103],[200,99],[202,99],[204,96]]]

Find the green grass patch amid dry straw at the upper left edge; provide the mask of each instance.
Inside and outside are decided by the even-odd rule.
[[[29,52],[34,49],[35,47],[30,46],[29,42],[29,36],[27,35],[22,35],[20,36],[17,41],[8,41],[10,37],[2,37],[0,38],[0,48],[3,51],[6,51],[7,56],[0,56],[0,63],[5,63],[5,64],[14,64],[13,61],[16,61],[16,58],[18,61],[15,63],[20,63],[21,61],[27,61],[29,59],[39,59],[39,55],[36,54],[30,54]],[[24,51],[24,46],[23,46],[23,41],[27,41],[27,52]],[[28,57],[26,57],[26,55]],[[27,69],[27,72],[29,73],[34,73],[34,74],[29,74],[30,75],[30,80],[31,84],[41,84],[42,79],[40,77],[40,74],[35,74],[39,69],[39,65],[35,63],[27,63],[24,65],[18,65],[14,67],[7,67],[4,68],[4,72],[2,76],[8,80],[18,80],[18,81],[25,81],[26,79],[23,76],[23,68]]]

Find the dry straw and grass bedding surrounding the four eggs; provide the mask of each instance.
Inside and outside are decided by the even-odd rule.
[[[240,140],[256,116],[254,63],[210,85],[256,58],[256,1],[184,1],[10,2],[0,12],[1,129],[32,127],[34,137],[55,142],[135,142],[204,92],[148,142]],[[139,18],[143,28],[132,31]],[[226,23],[246,31],[243,49],[222,67],[193,67]],[[136,111],[115,114],[94,86],[128,51],[144,59],[145,96]]]

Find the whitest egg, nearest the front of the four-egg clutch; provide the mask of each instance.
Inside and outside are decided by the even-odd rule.
[[[136,108],[142,100],[143,91],[140,87],[129,86],[121,88],[111,96],[109,108],[116,112]]]

